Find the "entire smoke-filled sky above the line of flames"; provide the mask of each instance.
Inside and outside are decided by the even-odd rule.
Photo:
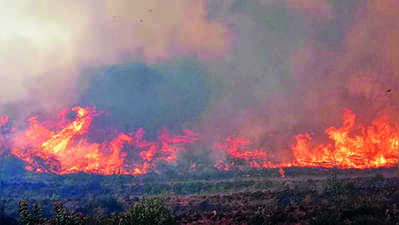
[[[95,105],[123,129],[280,149],[397,115],[395,0],[0,0],[0,112]],[[387,92],[391,89],[391,92]],[[112,116],[113,115],[113,116]],[[322,132],[321,132],[322,133]]]

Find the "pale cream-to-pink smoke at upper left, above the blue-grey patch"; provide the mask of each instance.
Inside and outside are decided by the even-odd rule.
[[[0,20],[0,104],[22,115],[73,104],[85,68],[217,59],[230,45],[202,0],[1,0]]]

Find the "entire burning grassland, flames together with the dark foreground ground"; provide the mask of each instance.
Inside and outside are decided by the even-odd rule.
[[[233,136],[197,157],[188,149],[200,135],[190,130],[164,129],[149,140],[142,128],[110,129],[92,140],[99,114],[75,107],[58,120],[31,117],[26,127],[1,117],[2,222],[399,222],[396,169],[386,168],[398,163],[399,133],[388,117],[365,126],[346,111],[341,127],[326,130],[330,142],[316,144],[310,134],[299,134],[290,149],[293,159],[274,162],[267,150]],[[216,164],[204,160],[215,151],[224,157]],[[381,172],[388,176],[375,176]]]

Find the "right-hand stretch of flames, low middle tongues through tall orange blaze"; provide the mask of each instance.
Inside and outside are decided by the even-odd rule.
[[[223,144],[217,144],[216,148],[224,151],[231,158],[244,159],[252,168],[296,166],[365,169],[396,166],[399,131],[390,125],[389,118],[382,116],[374,120],[370,126],[356,125],[355,122],[356,115],[346,110],[342,127],[326,129],[325,132],[331,140],[326,144],[313,146],[310,134],[297,135],[296,143],[291,147],[292,162],[274,163],[263,149],[249,149],[251,142],[242,137],[228,137]],[[352,134],[354,131],[360,134]],[[262,162],[262,165],[259,165],[259,162]],[[219,161],[215,167],[221,170],[231,168],[223,160]]]

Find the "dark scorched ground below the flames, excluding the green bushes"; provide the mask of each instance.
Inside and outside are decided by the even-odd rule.
[[[8,168],[1,173],[0,222],[15,222],[18,201],[28,200],[42,206],[44,218],[52,217],[53,204],[61,201],[85,216],[85,224],[114,224],[105,218],[147,196],[161,199],[178,224],[399,224],[396,168],[285,173],[282,178],[277,169],[181,173],[170,168],[141,177],[57,176]]]

